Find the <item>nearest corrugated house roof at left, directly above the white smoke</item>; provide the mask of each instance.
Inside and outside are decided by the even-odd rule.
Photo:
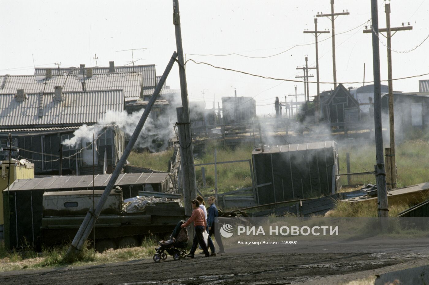
[[[54,100],[54,94],[27,94],[22,102],[15,99],[15,94],[0,94],[0,128],[96,123],[106,111],[121,112],[123,109],[122,90],[63,92],[62,101]]]

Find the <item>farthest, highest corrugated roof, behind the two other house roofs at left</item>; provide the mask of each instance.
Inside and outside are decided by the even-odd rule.
[[[91,67],[93,74],[109,73],[109,67]],[[82,74],[80,67],[60,67],[59,72],[58,68],[51,68],[52,75],[67,75],[67,74]],[[122,72],[141,72],[143,75],[143,88],[154,88],[158,81],[156,79],[155,64],[146,64],[146,65],[126,65],[126,66],[116,66],[115,73]],[[46,68],[36,67],[34,69],[34,75],[46,75]],[[159,76],[160,77],[160,76]]]

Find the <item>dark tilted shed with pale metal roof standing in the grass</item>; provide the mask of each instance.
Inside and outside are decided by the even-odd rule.
[[[341,189],[335,141],[254,149],[255,183],[260,205],[322,197]]]

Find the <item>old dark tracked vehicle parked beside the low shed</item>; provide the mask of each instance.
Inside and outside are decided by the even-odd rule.
[[[62,191],[43,194],[41,223],[42,244],[53,246],[73,240],[85,215],[97,206],[103,191]],[[156,201],[155,201],[156,202]],[[145,237],[163,238],[184,219],[180,201],[150,203],[142,212],[125,212],[121,190],[112,190],[95,223],[95,249],[103,252],[109,248],[139,245]],[[93,230],[94,231],[94,230]],[[94,232],[89,239],[93,240]]]

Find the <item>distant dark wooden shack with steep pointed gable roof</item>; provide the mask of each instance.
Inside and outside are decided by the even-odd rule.
[[[332,127],[350,129],[360,121],[359,102],[342,84],[335,88],[322,107],[323,118]]]

